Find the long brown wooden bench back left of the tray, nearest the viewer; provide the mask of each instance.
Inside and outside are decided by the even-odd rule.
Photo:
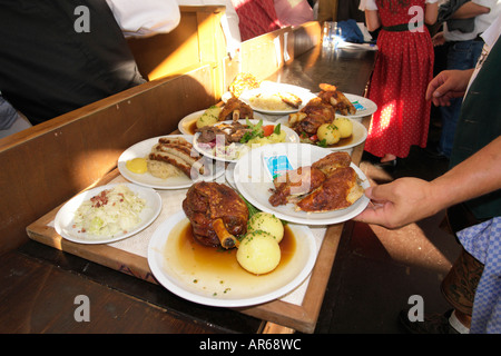
[[[128,147],[216,102],[210,66],[131,88],[0,139],[0,255],[26,227],[116,168]]]

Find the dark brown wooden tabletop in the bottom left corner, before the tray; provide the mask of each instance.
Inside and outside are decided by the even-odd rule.
[[[190,334],[222,333],[214,324],[138,300],[108,286],[11,251],[0,259],[2,334]],[[89,320],[75,319],[87,296]],[[77,313],[81,315],[81,313]]]

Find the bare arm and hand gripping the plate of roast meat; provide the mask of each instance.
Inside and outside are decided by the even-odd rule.
[[[501,189],[501,136],[432,181],[399,178],[366,189],[372,205],[355,221],[399,228]]]

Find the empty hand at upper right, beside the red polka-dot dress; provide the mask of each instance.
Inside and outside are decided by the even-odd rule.
[[[426,100],[432,100],[436,107],[450,106],[451,99],[464,96],[472,73],[473,69],[441,71],[428,85]]]

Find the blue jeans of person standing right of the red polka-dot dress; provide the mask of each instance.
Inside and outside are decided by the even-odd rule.
[[[482,41],[458,41],[449,47],[448,69],[471,69],[482,53]],[[462,98],[451,100],[450,107],[441,107],[442,134],[440,137],[439,151],[445,157],[451,157],[454,142],[455,126],[461,112]]]

